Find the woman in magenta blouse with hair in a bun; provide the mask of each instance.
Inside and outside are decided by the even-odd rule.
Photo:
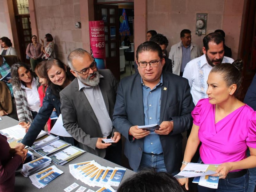
[[[180,170],[191,161],[201,142],[201,163],[220,164],[218,189],[198,185],[199,192],[247,191],[247,169],[256,167],[256,112],[236,98],[242,81],[243,63],[222,63],[208,76],[208,99],[199,100]],[[246,156],[249,148],[251,156]],[[180,179],[188,189],[188,178]]]

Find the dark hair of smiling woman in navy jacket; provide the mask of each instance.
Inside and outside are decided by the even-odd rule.
[[[59,59],[56,59],[56,58],[53,58],[53,59],[49,59],[46,61],[46,64],[45,64],[45,67],[44,67],[44,71],[45,71],[45,74],[47,74],[47,72],[52,68],[53,65],[56,65],[60,68],[62,68],[64,71],[66,71],[66,67],[65,67],[65,64],[62,63]],[[68,68],[67,71],[66,71],[66,80],[73,80],[75,77],[72,75],[72,73],[70,72],[70,69]],[[47,79],[48,79],[48,84],[49,84],[49,87],[51,88],[52,90],[52,93],[58,97],[60,99],[60,91],[63,89],[61,88],[59,85],[56,85],[56,84],[53,84],[49,78],[49,76],[47,75]],[[66,81],[65,80],[65,81]]]

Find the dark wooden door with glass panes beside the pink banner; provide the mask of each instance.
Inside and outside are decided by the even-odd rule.
[[[95,20],[103,20],[105,27],[106,65],[120,80],[119,18],[117,5],[96,5]]]

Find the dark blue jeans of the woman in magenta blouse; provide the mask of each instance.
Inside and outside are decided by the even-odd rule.
[[[218,188],[212,189],[197,185],[198,192],[247,192],[249,174],[246,173],[242,177],[232,179],[220,179]]]

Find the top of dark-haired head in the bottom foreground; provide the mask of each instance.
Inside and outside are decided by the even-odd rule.
[[[180,183],[167,172],[144,170],[127,178],[117,192],[185,192]]]

